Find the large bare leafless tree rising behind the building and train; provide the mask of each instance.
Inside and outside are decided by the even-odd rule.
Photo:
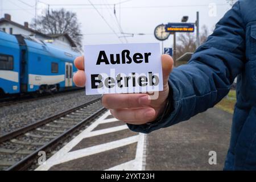
[[[78,22],[76,13],[65,9],[51,10],[46,14],[32,20],[32,28],[43,34],[65,34],[67,33],[77,47],[82,47],[81,24]]]

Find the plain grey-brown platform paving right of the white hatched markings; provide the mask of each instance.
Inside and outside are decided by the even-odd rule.
[[[229,148],[232,114],[212,108],[189,121],[147,135],[147,170],[222,170]],[[209,164],[216,151],[217,164]]]

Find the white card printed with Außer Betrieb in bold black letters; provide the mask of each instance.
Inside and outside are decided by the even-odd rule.
[[[159,43],[85,46],[86,94],[163,90]]]

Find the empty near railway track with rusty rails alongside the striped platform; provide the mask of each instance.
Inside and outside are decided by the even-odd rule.
[[[104,111],[100,98],[0,136],[0,170],[26,170]]]

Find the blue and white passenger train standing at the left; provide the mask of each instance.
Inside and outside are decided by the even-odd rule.
[[[72,89],[79,53],[0,31],[0,96]]]

